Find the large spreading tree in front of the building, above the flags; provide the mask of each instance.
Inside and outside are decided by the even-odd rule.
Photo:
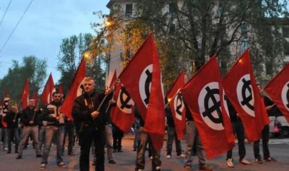
[[[113,37],[124,23],[126,28],[133,28],[133,23],[146,26],[156,40],[166,87],[173,83],[182,68],[191,76],[194,68],[201,68],[213,54],[218,55],[224,74],[246,47],[251,48],[255,73],[260,79],[270,78],[283,65],[284,39],[279,29],[280,17],[288,18],[287,1],[133,2],[136,3],[135,16],[126,17],[113,6],[112,13],[104,16],[113,25],[104,27],[98,35],[106,39],[102,43],[111,49]],[[146,30],[143,29],[143,33],[147,33]],[[96,49],[100,49],[99,46]]]

